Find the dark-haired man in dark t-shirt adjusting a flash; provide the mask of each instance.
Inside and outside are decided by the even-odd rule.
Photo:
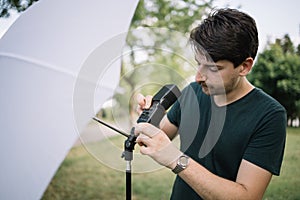
[[[177,174],[171,199],[261,199],[272,175],[279,175],[285,109],[246,78],[257,35],[255,21],[243,12],[212,13],[190,35],[196,82],[183,90],[160,129],[136,125],[141,153]],[[151,96],[138,97],[141,109],[150,102]],[[180,150],[171,143],[177,133]]]

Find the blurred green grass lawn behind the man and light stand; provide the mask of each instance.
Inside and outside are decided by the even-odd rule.
[[[123,141],[123,137],[111,139],[111,142],[121,146]],[[110,152],[106,144],[107,140],[104,140],[96,146],[101,152]],[[110,155],[110,153],[106,154]],[[134,162],[135,160],[133,160],[133,167]],[[264,199],[300,199],[299,167],[300,128],[289,128],[281,175],[272,178]],[[173,173],[167,169],[135,173],[132,176],[132,199],[169,199],[174,178]],[[102,164],[87,151],[86,147],[74,147],[63,161],[42,199],[123,200],[125,199],[125,173]]]

